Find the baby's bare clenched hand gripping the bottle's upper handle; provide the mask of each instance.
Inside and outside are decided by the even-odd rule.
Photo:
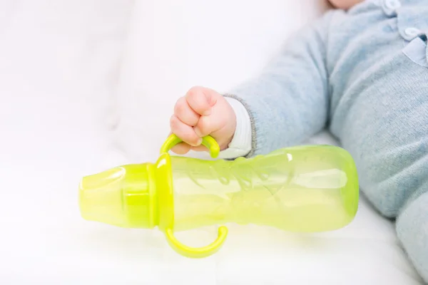
[[[175,103],[170,128],[171,133],[183,140],[171,149],[179,155],[190,149],[207,151],[200,145],[205,135],[211,135],[220,145],[220,150],[225,150],[235,133],[235,112],[215,90],[193,87]]]

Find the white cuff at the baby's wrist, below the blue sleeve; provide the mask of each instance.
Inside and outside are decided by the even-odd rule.
[[[219,158],[233,159],[243,157],[251,150],[251,121],[247,109],[240,101],[225,97],[236,115],[236,129],[228,148],[221,151]]]

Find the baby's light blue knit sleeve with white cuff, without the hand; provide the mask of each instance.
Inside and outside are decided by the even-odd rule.
[[[225,95],[237,121],[234,138],[222,157],[253,156],[296,145],[325,127],[329,22],[326,14],[300,31],[260,76]]]

